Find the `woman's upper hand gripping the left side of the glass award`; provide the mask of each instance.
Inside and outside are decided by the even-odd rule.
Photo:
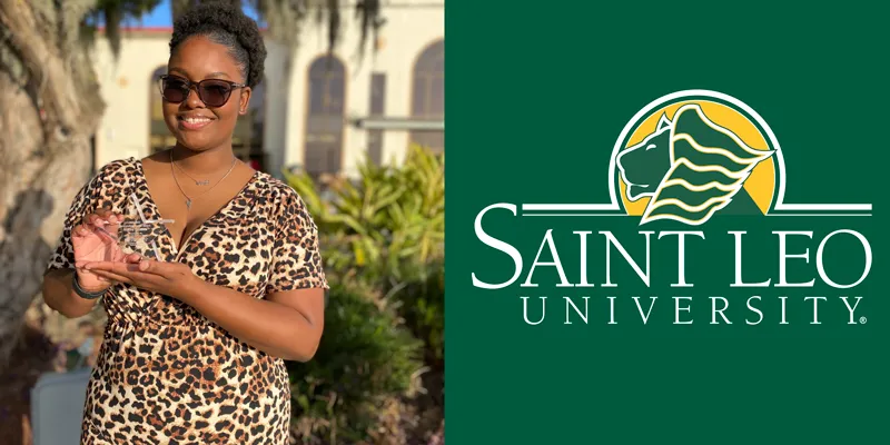
[[[75,267],[80,286],[87,291],[107,289],[113,283],[82,268],[90,261],[127,261],[127,255],[118,245],[118,224],[123,217],[110,210],[101,209],[88,215],[83,221],[71,230],[71,244],[75,248]],[[110,233],[112,237],[102,233]]]

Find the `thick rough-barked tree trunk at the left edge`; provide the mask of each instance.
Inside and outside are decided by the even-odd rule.
[[[0,0],[0,375],[71,199],[103,103],[80,20],[95,1]]]

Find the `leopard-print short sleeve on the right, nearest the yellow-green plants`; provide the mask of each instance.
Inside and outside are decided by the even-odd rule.
[[[314,287],[328,289],[318,248],[318,227],[303,199],[287,187],[275,211],[275,241],[266,293]]]

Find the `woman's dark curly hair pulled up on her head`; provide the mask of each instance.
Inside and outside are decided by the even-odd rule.
[[[174,23],[170,53],[190,37],[204,36],[229,49],[248,87],[263,79],[266,44],[257,23],[238,7],[226,1],[202,1]]]

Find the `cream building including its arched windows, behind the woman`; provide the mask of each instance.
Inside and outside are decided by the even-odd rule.
[[[326,31],[309,28],[288,50],[266,40],[265,79],[236,128],[239,157],[280,177],[283,168],[312,174],[357,172],[366,157],[399,162],[412,142],[444,150],[444,2],[384,2],[376,44],[358,55],[359,29],[344,10],[340,43],[327,56]],[[314,24],[310,24],[314,27]],[[169,28],[123,31],[115,60],[96,46],[107,109],[95,137],[95,164],[145,157],[172,144],[160,113],[158,76],[166,72]]]

